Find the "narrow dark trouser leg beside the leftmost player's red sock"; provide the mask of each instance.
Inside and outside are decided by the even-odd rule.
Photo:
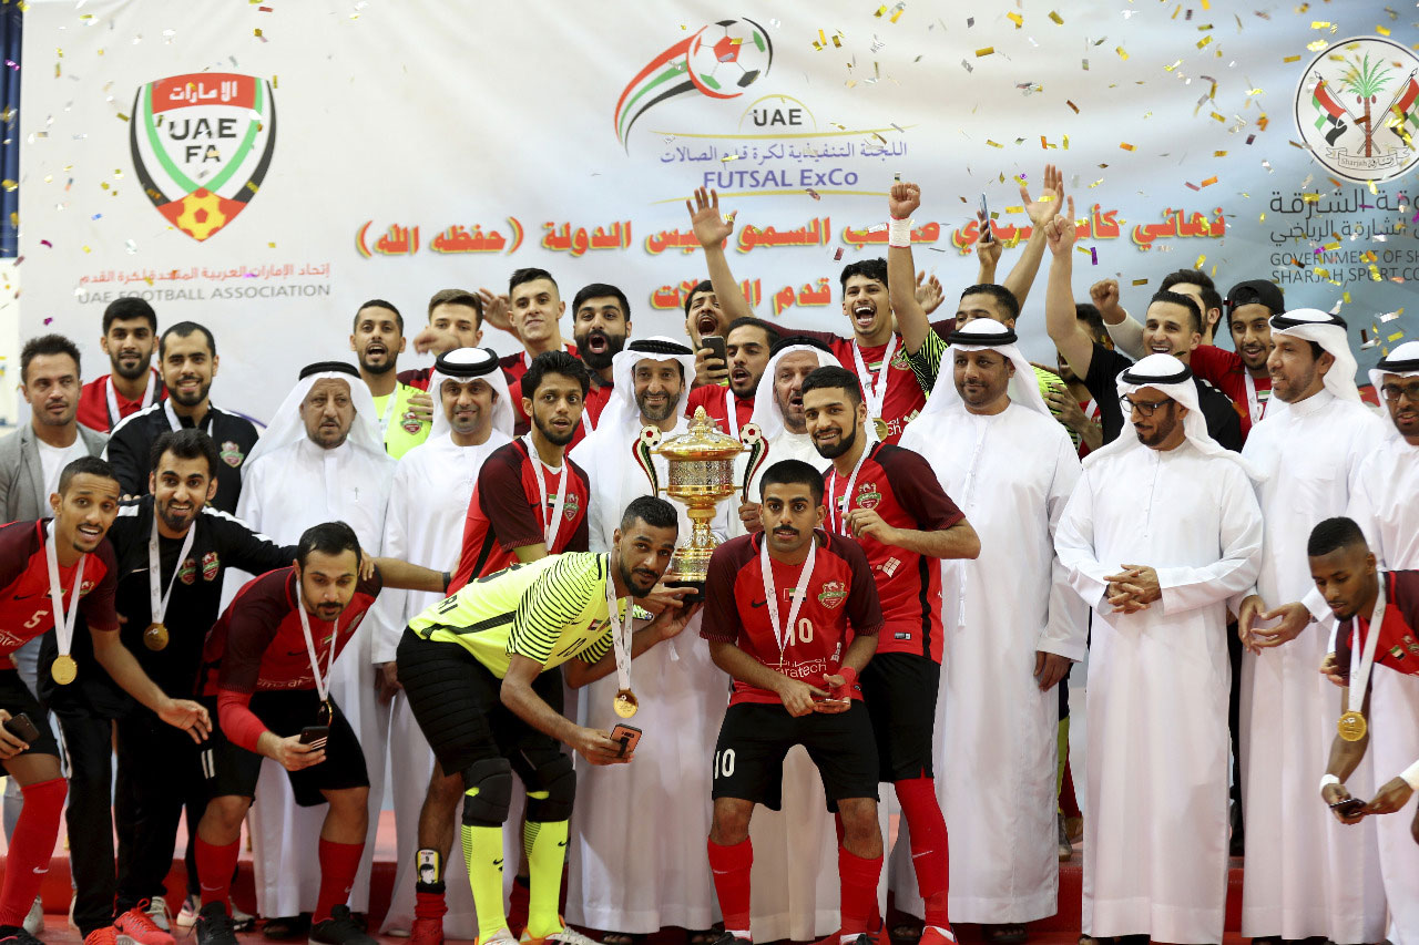
[[[79,932],[114,924],[114,722],[82,712],[55,712],[70,759],[64,812],[74,873],[74,922]]]

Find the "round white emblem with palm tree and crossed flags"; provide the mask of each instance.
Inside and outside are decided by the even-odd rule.
[[[1379,37],[1323,50],[1301,74],[1296,126],[1338,177],[1399,177],[1419,163],[1419,57]]]

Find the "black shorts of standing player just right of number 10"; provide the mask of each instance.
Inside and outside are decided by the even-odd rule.
[[[893,782],[932,778],[941,664],[914,653],[878,653],[858,682],[877,739],[878,778]]]

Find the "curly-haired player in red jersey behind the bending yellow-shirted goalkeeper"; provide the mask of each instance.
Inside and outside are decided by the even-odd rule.
[[[580,429],[590,375],[576,358],[549,350],[532,359],[521,385],[532,430],[478,471],[450,590],[519,560],[586,551],[590,485],[566,447]]]

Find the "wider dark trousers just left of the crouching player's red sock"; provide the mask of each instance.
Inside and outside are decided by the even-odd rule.
[[[189,851],[207,809],[200,746],[187,732],[139,709],[118,724],[118,911],[167,895],[177,820],[187,809]],[[187,856],[189,890],[193,857]],[[180,897],[179,897],[180,898]],[[176,908],[176,904],[173,905]]]

